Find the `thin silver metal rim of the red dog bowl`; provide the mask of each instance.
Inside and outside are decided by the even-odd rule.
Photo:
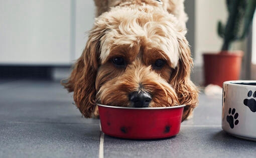
[[[102,104],[97,104],[97,105],[102,107],[109,107],[109,108],[136,109],[136,110],[176,109],[176,108],[181,108],[186,106],[186,105],[177,105],[177,106],[168,106],[168,107],[121,107],[121,106],[109,106],[109,105],[102,105]]]

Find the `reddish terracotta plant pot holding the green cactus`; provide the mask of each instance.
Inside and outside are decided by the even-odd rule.
[[[204,85],[215,84],[222,87],[224,81],[238,80],[240,77],[242,51],[222,51],[220,53],[205,53]]]

